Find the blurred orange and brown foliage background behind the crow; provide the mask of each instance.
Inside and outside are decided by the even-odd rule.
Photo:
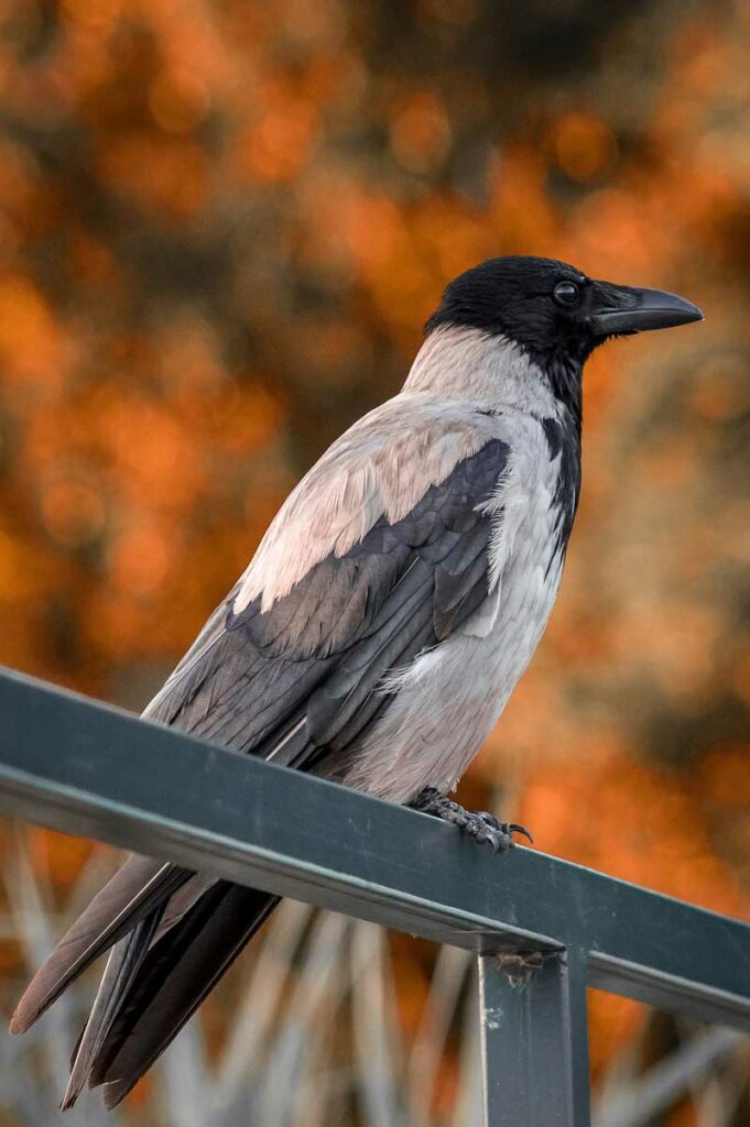
[[[750,3],[5,0],[0,20],[0,662],[142,708],[477,260],[677,290],[705,326],[586,372],[562,595],[459,797],[747,915]],[[116,857],[0,834],[9,1013]],[[1,1124],[63,1121],[92,988],[0,1033]],[[461,952],[288,905],[116,1116],[89,1095],[64,1122],[473,1127],[475,1035]],[[592,994],[591,1056],[601,1127],[750,1122],[725,1032]]]

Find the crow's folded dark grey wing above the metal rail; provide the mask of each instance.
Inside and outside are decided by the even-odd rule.
[[[491,440],[396,523],[381,517],[263,611],[231,597],[147,710],[237,751],[309,767],[388,707],[383,677],[460,629],[489,594],[485,503],[508,464]],[[291,550],[291,549],[290,549]]]

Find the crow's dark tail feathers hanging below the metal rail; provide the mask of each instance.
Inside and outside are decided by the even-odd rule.
[[[139,876],[145,880],[134,888]],[[61,1107],[72,1107],[86,1084],[106,1085],[107,1108],[120,1103],[277,903],[267,893],[131,858],[37,971],[11,1019],[12,1032],[28,1029],[112,948]]]

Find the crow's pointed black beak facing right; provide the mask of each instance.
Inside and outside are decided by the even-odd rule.
[[[589,323],[597,337],[703,321],[697,305],[665,290],[641,290],[609,282],[597,282],[593,290]]]

